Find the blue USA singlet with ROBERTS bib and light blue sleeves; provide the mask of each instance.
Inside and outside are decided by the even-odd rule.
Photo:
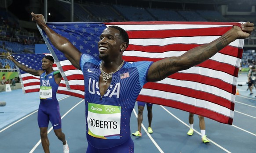
[[[124,62],[112,75],[110,87],[101,96],[99,91],[99,65],[88,54],[80,59],[84,75],[84,100],[88,143],[97,149],[109,149],[130,141],[130,117],[135,101],[147,82],[149,61]]]

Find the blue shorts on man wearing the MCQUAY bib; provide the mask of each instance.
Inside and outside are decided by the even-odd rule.
[[[37,115],[39,128],[48,127],[49,121],[51,121],[53,129],[61,128],[59,105],[43,105],[40,103]]]

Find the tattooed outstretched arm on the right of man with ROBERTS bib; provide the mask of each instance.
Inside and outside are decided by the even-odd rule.
[[[241,28],[233,26],[223,36],[211,43],[195,47],[179,57],[168,57],[154,62],[148,71],[147,80],[149,82],[160,81],[173,73],[200,64],[211,58],[234,40],[248,38],[253,29],[254,24],[250,22],[242,24]]]

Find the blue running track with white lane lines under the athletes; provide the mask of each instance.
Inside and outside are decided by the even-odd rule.
[[[206,135],[211,141],[201,142],[199,119],[194,115],[194,135],[187,135],[188,112],[153,105],[152,129],[147,133],[147,110],[144,110],[142,137],[134,137],[135,153],[256,153],[256,90],[249,96],[246,74],[239,74],[233,125],[205,118]],[[62,131],[70,153],[85,153],[84,100],[57,95],[62,115]],[[0,153],[43,153],[37,125],[38,93],[23,94],[21,89],[0,93]],[[131,133],[137,131],[137,104],[131,117]],[[48,128],[51,153],[62,153],[62,143]]]

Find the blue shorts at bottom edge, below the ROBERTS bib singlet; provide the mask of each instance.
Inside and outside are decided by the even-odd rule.
[[[123,144],[119,146],[114,146],[109,149],[98,149],[91,146],[91,144],[88,143],[88,148],[86,153],[134,153],[134,143],[131,137]]]

